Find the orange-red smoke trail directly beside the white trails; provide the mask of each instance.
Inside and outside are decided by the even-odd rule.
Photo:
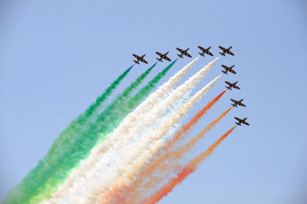
[[[226,90],[224,90],[224,92],[222,92],[221,94],[217,95],[212,101],[210,101],[206,106],[204,106],[200,111],[198,111],[187,124],[183,125],[181,130],[178,130],[174,134],[174,137],[171,140],[169,140],[167,144],[162,148],[162,150],[157,153],[155,158],[153,158],[153,160],[150,161],[149,166],[146,167],[143,171],[141,171],[139,175],[137,175],[138,179],[132,185],[129,185],[125,187],[124,189],[122,189],[122,191],[124,191],[126,195],[128,195],[129,192],[136,192],[136,190],[139,189],[144,179],[148,179],[148,178],[149,180],[153,179],[151,178],[153,176],[152,175],[153,171],[159,169],[158,167],[164,164],[166,160],[174,160],[175,158],[180,158],[181,156],[179,155],[179,153],[176,151],[175,152],[170,151],[170,148],[174,145],[174,143],[178,142],[179,140],[184,139],[183,136],[187,133],[187,131],[193,125],[195,125],[199,121],[199,119],[201,119],[201,117],[204,114],[206,114],[207,110],[209,110],[225,93],[226,93]],[[226,113],[222,115],[225,116],[227,112],[228,111],[226,111]],[[220,118],[220,120],[222,119],[222,117],[218,117],[218,118]],[[215,123],[217,123],[218,121],[219,120],[215,120]],[[180,149],[180,148],[175,147],[175,149]],[[169,163],[165,164],[160,169],[165,170],[168,166],[169,166]],[[155,179],[155,182],[157,182],[157,179]],[[150,187],[157,185],[155,182],[149,182],[147,186],[145,187],[145,189],[149,189]],[[117,192],[117,194],[122,196],[122,193]],[[136,199],[136,197],[140,197],[140,195],[138,193],[134,193],[134,195],[130,195],[129,200],[134,200]]]

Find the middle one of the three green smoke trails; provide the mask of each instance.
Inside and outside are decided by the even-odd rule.
[[[16,203],[20,203],[20,200],[26,203],[29,199],[31,199],[30,202],[36,203],[46,196],[50,196],[49,192],[54,191],[57,184],[62,182],[65,178],[67,172],[78,164],[79,160],[85,157],[89,150],[95,145],[99,137],[99,132],[106,126],[105,121],[109,120],[114,115],[117,116],[117,112],[115,111],[116,107],[124,105],[130,93],[147,77],[155,65],[156,64],[153,64],[149,67],[141,76],[131,83],[122,94],[117,96],[97,117],[96,123],[87,124],[85,130],[77,135],[72,144],[68,145],[65,149],[55,152],[56,156],[52,156],[49,160],[45,160],[46,168],[37,172],[35,177],[29,181],[32,185],[29,186],[28,189],[22,189],[23,191],[21,193],[24,195],[23,197],[14,197]],[[42,192],[46,195],[40,195]]]

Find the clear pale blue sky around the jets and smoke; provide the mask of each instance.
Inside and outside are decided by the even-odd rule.
[[[233,46],[194,89],[235,64],[183,123],[239,81],[193,129],[232,109],[190,156],[248,117],[159,203],[306,203],[307,14],[304,1],[0,1],[0,200],[35,167],[59,133],[133,64],[133,53]],[[184,79],[212,61],[201,57]],[[159,85],[191,59],[179,59]],[[168,63],[158,63],[151,79]],[[148,65],[135,65],[120,93]],[[146,82],[145,80],[145,82]],[[144,82],[144,84],[145,84]],[[114,95],[115,96],[115,95]]]

